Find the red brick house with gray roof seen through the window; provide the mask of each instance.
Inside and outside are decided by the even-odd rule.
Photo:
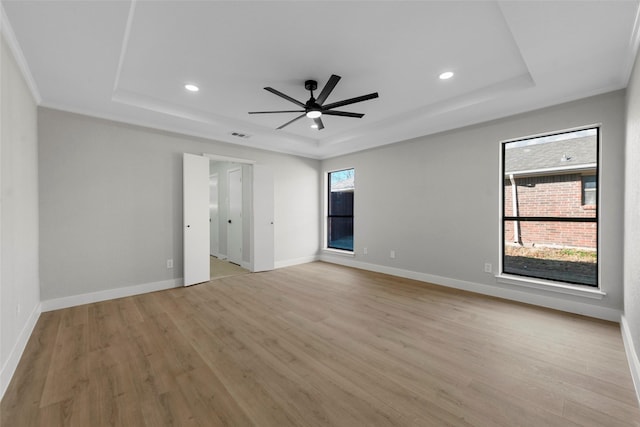
[[[595,218],[596,159],[595,136],[506,149],[504,215]],[[597,248],[594,222],[505,221],[504,232],[508,244]]]

